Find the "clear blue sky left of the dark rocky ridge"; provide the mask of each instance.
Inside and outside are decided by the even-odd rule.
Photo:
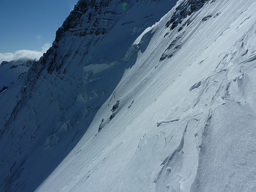
[[[56,30],[77,1],[1,0],[0,63],[4,53],[30,50],[40,54],[49,48],[55,39]]]

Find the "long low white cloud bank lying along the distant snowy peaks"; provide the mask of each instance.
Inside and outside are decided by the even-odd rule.
[[[44,44],[41,51],[30,51],[30,50],[19,50],[14,53],[0,53],[0,64],[2,61],[12,61],[12,60],[34,60],[39,59],[43,56],[50,47],[49,43]]]

